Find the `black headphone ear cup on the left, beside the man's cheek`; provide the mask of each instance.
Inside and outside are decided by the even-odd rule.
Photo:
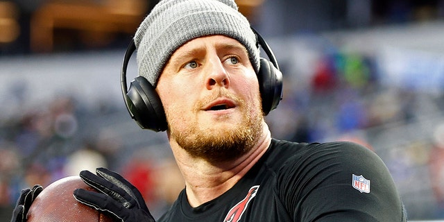
[[[162,101],[146,78],[137,76],[125,96],[128,111],[141,128],[155,132],[167,130]]]

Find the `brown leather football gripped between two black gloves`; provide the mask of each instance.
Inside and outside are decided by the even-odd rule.
[[[79,176],[69,176],[51,183],[35,198],[28,211],[28,222],[112,222],[112,219],[92,207],[79,203],[75,189],[95,191]]]

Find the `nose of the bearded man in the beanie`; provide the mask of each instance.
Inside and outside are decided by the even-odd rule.
[[[212,58],[207,62],[206,73],[206,86],[207,89],[213,89],[214,87],[228,87],[230,85],[230,78],[227,70],[223,67],[219,57]]]

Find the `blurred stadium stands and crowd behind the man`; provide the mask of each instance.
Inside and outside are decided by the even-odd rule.
[[[273,137],[364,144],[411,221],[443,220],[444,1],[237,2],[284,74],[284,100],[266,117]],[[126,45],[153,4],[0,1],[2,221],[24,187],[96,166],[139,187],[156,217],[176,198],[166,135],[138,128],[119,88]]]

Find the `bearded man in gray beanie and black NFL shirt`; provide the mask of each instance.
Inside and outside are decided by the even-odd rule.
[[[368,148],[271,138],[257,41],[233,0],[160,1],[139,27],[139,75],[160,98],[186,185],[158,221],[406,221]],[[77,200],[119,221],[154,221],[133,185],[96,174],[80,177],[103,194],[78,189]]]

